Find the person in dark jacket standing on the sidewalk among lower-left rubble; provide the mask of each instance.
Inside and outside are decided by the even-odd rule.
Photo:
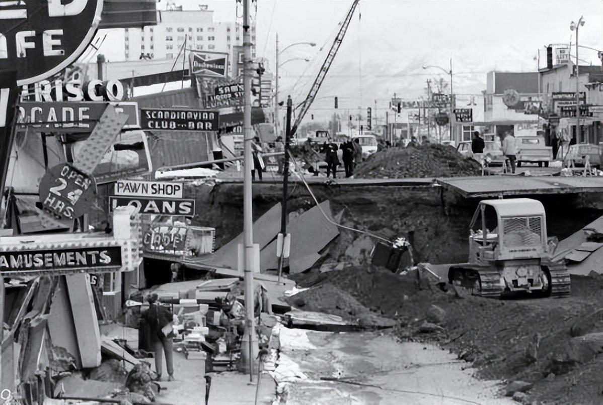
[[[147,301],[149,309],[142,313],[142,318],[150,326],[151,341],[153,342],[155,352],[157,381],[161,381],[162,351],[165,351],[165,366],[168,369],[168,381],[174,381],[174,363],[172,362],[172,355],[174,353],[174,342],[172,342],[172,338],[174,338],[174,331],[172,330],[174,314],[169,312],[164,306],[157,304],[157,294],[148,295]]]

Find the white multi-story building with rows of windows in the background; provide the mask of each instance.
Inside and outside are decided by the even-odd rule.
[[[197,8],[192,8],[196,6]],[[174,60],[186,51],[227,52],[233,58],[236,46],[243,43],[243,29],[237,22],[214,22],[213,10],[207,5],[185,2],[184,5],[168,3],[160,11],[161,19],[155,26],[145,28],[113,29],[108,54],[111,62]],[[116,31],[116,32],[115,32]],[[121,45],[120,39],[123,39]],[[256,42],[256,27],[251,25],[251,43]],[[107,44],[109,45],[109,44]],[[256,51],[252,46],[251,57]],[[236,58],[236,56],[235,56]],[[236,76],[236,75],[235,75]]]

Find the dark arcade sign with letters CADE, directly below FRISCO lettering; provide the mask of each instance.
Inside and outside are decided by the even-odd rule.
[[[19,105],[19,124],[37,131],[92,132],[107,108],[106,102],[30,102]],[[140,128],[136,102],[110,103],[118,114],[127,114],[123,128]]]

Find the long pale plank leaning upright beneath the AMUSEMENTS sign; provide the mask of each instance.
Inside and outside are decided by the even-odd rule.
[[[74,318],[81,365],[92,368],[101,364],[101,336],[94,308],[88,274],[65,276],[69,304]]]

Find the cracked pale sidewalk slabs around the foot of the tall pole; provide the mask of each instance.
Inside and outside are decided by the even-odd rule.
[[[164,380],[160,383],[165,391],[160,392],[156,401],[173,405],[204,405],[205,379],[202,361],[187,360],[182,353],[174,352],[173,382]],[[165,367],[165,362],[164,362]],[[166,374],[166,373],[163,373]],[[249,384],[249,375],[227,371],[210,373],[212,385],[209,390],[210,405],[253,405],[256,398],[257,376],[253,377],[253,385]],[[268,373],[262,373],[257,403],[270,405],[276,396],[276,383]]]

